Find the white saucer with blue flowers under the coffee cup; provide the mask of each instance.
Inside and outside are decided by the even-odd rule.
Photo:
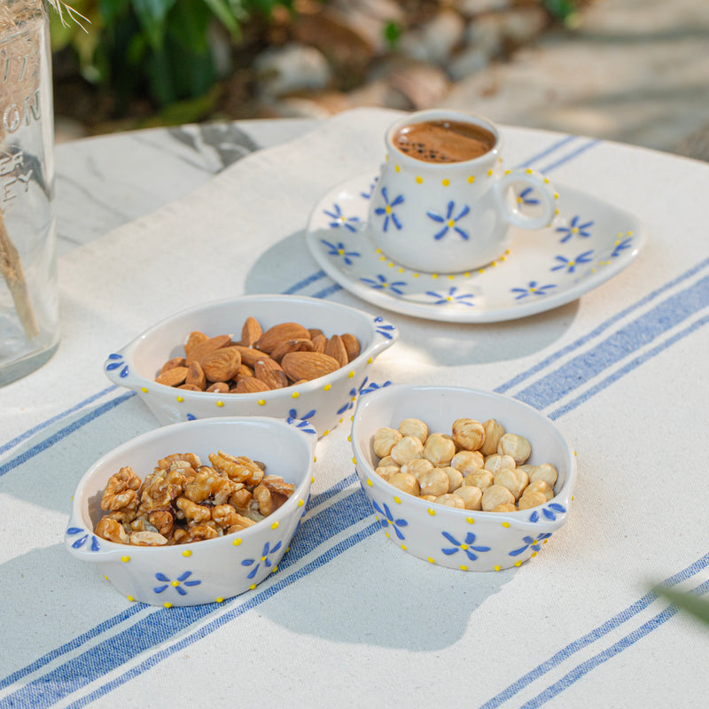
[[[308,221],[308,248],[349,292],[404,315],[451,323],[495,323],[565,305],[625,269],[645,237],[632,214],[570,187],[558,188],[548,229],[512,228],[507,253],[482,269],[431,274],[386,258],[367,231],[372,173],[321,199]]]

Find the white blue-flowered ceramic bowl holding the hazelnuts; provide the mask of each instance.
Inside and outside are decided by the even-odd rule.
[[[460,510],[402,493],[375,472],[374,434],[420,418],[430,432],[450,433],[456,418],[495,418],[506,432],[532,445],[528,464],[557,468],[555,496],[529,510]],[[397,547],[431,564],[464,571],[500,571],[535,557],[569,517],[576,460],[548,417],[521,401],[452,386],[392,385],[362,396],[352,427],[354,460],[362,489],[386,536]]]

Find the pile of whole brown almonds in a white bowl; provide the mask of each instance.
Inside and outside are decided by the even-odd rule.
[[[323,377],[360,354],[354,335],[332,335],[299,323],[279,323],[263,331],[248,317],[241,339],[208,337],[192,331],[184,356],[163,364],[159,384],[192,392],[254,393],[282,389]]]

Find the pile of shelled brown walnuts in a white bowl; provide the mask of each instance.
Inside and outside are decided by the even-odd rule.
[[[247,456],[193,453],[158,461],[141,479],[127,465],[106,484],[96,534],[119,544],[162,547],[214,539],[255,525],[277,510],[295,486]]]

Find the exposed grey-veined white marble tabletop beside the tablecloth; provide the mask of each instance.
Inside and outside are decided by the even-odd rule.
[[[316,125],[304,119],[206,123],[58,144],[58,255],[180,199],[249,153]]]

